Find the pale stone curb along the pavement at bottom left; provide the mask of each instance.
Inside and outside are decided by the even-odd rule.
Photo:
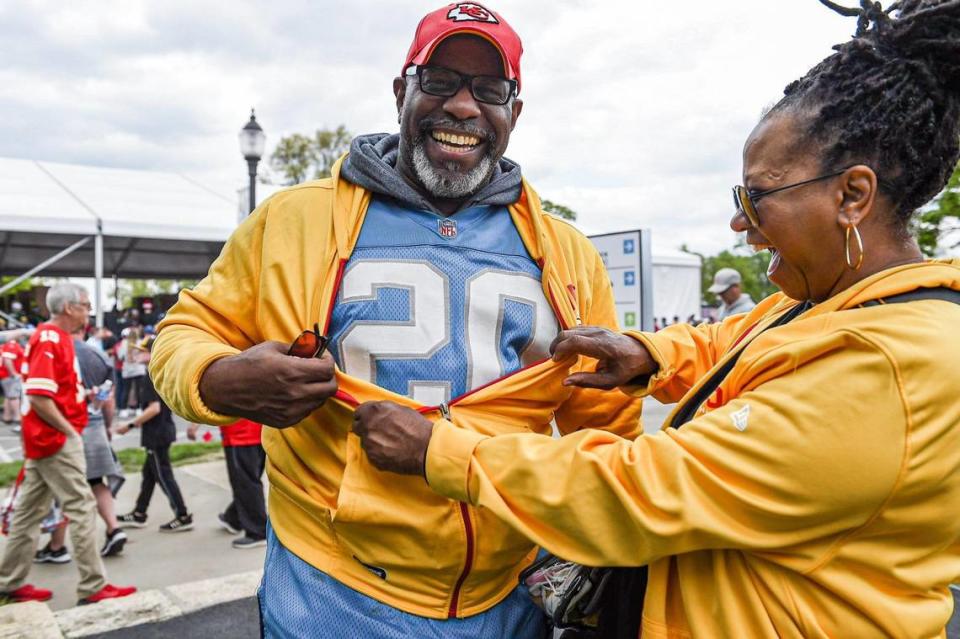
[[[144,590],[92,606],[53,612],[30,601],[0,607],[0,639],[72,639],[179,617],[217,604],[253,597],[262,571]]]

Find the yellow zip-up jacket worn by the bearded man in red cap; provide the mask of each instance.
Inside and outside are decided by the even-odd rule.
[[[161,396],[187,419],[233,421],[202,402],[206,367],[266,340],[292,341],[325,327],[344,264],[360,234],[370,193],[337,177],[274,195],[228,240],[207,277],[184,291],[160,325],[150,372]],[[562,326],[616,326],[610,280],[592,244],[543,213],[524,183],[509,207],[543,289]],[[580,368],[584,362],[577,362]],[[571,391],[570,366],[546,361],[454,398],[451,419],[485,435],[549,434],[599,427],[624,437],[640,432],[639,399]],[[270,520],[294,554],[342,583],[401,610],[433,617],[482,612],[517,585],[534,545],[489,511],[440,497],[422,478],[400,478],[370,465],[350,432],[361,402],[389,399],[422,406],[338,371],[335,400],[286,429],[265,428]],[[256,389],[250,389],[256,392]]]

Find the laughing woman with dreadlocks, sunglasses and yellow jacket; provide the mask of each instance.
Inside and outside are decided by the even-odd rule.
[[[644,639],[943,636],[960,578],[960,260],[924,261],[908,222],[960,154],[960,0],[855,13],[856,36],[744,147],[731,226],[772,253],[782,293],[721,324],[554,343],[555,360],[599,362],[569,386],[679,402],[668,427],[485,437],[458,407],[434,423],[357,410],[378,467],[422,472],[567,560],[648,565],[645,596],[623,579],[637,573],[607,582],[625,605],[603,636],[635,638],[641,609]]]

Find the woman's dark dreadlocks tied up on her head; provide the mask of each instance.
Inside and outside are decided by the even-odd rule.
[[[784,89],[772,113],[798,117],[825,171],[870,166],[905,230],[960,156],[960,0],[881,8],[820,2],[857,17],[849,42]]]

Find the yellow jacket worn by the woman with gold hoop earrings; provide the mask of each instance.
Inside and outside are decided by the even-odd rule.
[[[649,564],[644,639],[943,636],[960,576],[960,305],[860,307],[940,286],[960,290],[960,260],[877,273],[766,332],[796,302],[633,334],[660,364],[637,392],[681,406],[743,353],[699,416],[634,442],[484,439],[439,420],[427,479],[562,557]]]

